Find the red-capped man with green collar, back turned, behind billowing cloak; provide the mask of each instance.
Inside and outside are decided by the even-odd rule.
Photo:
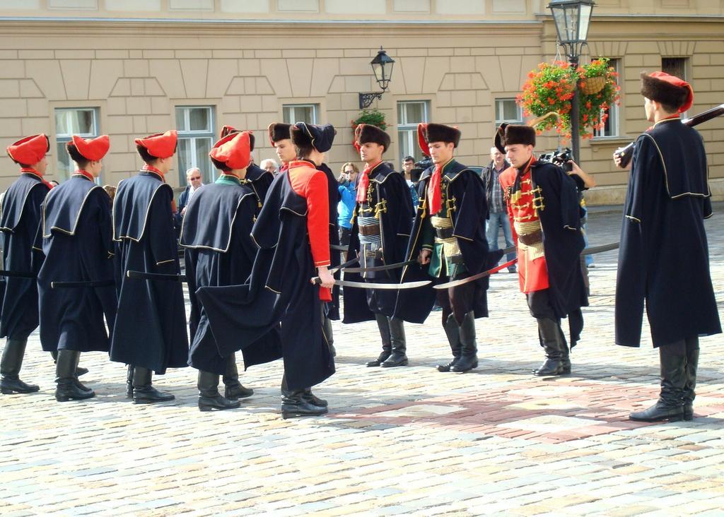
[[[201,411],[239,407],[239,398],[254,393],[239,383],[235,352],[221,355],[223,346],[216,342],[206,311],[195,294],[203,286],[244,283],[251,273],[257,251],[251,229],[259,208],[258,197],[243,179],[253,138],[251,132],[229,132],[216,142],[209,156],[222,174],[216,182],[204,186],[194,195],[181,228],[191,301],[188,364],[199,370],[198,407]],[[279,334],[270,332],[242,349],[245,357],[251,356],[245,364],[253,362],[255,349],[267,344],[272,351],[269,360],[281,356]],[[226,385],[223,397],[218,389],[219,375],[224,376]]]

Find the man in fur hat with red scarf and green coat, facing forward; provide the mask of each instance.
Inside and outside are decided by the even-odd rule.
[[[444,124],[418,125],[418,142],[433,166],[422,174],[420,203],[408,249],[408,260],[428,266],[440,281],[460,280],[489,269],[502,252],[489,255],[485,236],[488,206],[480,176],[453,158],[460,130]],[[478,367],[475,319],[488,316],[488,277],[437,291],[442,327],[450,342],[452,359],[439,364],[440,372],[468,372]],[[432,289],[429,289],[432,291]],[[421,291],[424,293],[424,291]],[[398,312],[429,314],[429,297],[398,299]]]

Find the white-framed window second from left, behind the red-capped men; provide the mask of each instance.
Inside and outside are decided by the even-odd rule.
[[[214,107],[177,106],[176,129],[180,184],[185,185],[186,171],[196,167],[201,171],[204,183],[216,179],[216,168],[211,165],[209,151],[214,145]]]

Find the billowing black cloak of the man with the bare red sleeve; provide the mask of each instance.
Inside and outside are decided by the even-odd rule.
[[[276,332],[281,322],[290,390],[311,387],[334,374],[334,359],[322,331],[319,287],[309,282],[316,268],[306,213],[307,201],[292,189],[289,172],[278,174],[253,226],[252,237],[260,249],[248,282],[201,287],[196,292],[222,355],[240,349],[240,343]],[[263,357],[258,362],[262,359],[269,360]]]

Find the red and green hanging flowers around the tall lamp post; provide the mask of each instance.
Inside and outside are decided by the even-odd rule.
[[[541,63],[538,69],[528,73],[528,80],[516,101],[523,108],[523,116],[542,116],[555,111],[558,119],[548,117],[539,121],[536,131],[555,128],[564,141],[570,140],[571,101],[578,85],[579,134],[590,138],[595,129],[605,124],[608,108],[618,104],[620,87],[616,77],[618,74],[608,66],[605,58],[594,59],[578,68],[565,61]]]

